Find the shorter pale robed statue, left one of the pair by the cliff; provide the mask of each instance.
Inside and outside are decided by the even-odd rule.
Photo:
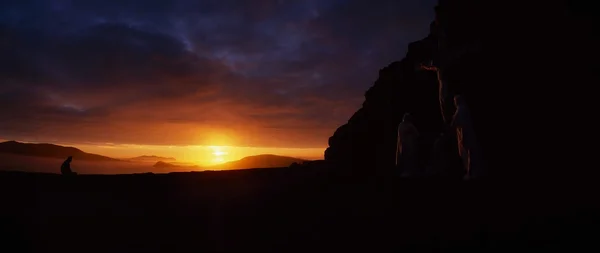
[[[396,166],[401,168],[403,176],[411,176],[417,172],[417,149],[419,131],[413,124],[412,116],[405,113],[398,125],[396,148]]]

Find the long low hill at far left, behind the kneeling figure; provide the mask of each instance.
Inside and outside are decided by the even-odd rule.
[[[75,160],[88,161],[120,161],[106,156],[86,153],[74,147],[64,147],[47,143],[2,142],[0,143],[0,153],[60,159],[66,159],[68,156],[73,156],[73,159]]]

